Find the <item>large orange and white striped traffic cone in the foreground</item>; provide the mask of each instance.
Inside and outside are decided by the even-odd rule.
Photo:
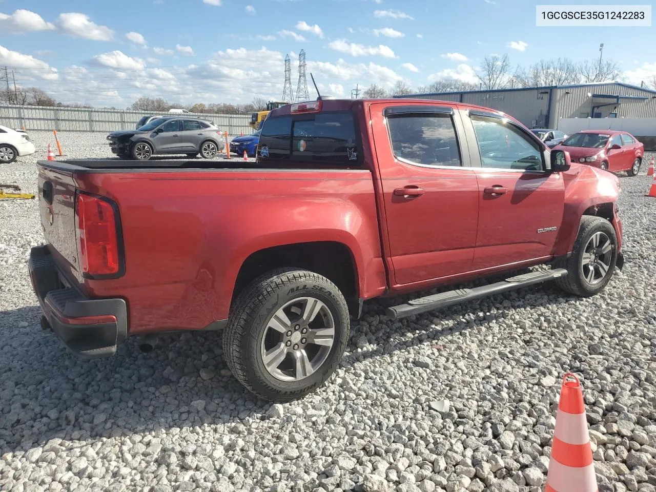
[[[596,492],[592,448],[579,379],[567,373],[560,388],[554,442],[544,492]]]

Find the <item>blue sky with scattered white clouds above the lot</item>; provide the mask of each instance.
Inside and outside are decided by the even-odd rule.
[[[626,81],[656,75],[654,28],[538,28],[525,0],[0,0],[0,12],[0,65],[19,85],[97,106],[279,99],[285,55],[295,89],[301,49],[321,91],[346,97],[356,84],[476,81],[493,53],[513,66],[594,59],[599,43]]]

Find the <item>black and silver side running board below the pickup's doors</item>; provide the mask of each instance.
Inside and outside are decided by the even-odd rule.
[[[564,268],[556,268],[556,270],[549,270],[548,272],[531,272],[529,274],[510,277],[501,282],[491,283],[490,285],[474,287],[474,289],[456,289],[455,291],[442,292],[440,294],[409,300],[406,304],[387,308],[386,314],[392,319],[406,318],[407,316],[413,316],[413,314],[446,308],[447,306],[453,306],[453,304],[460,304],[468,300],[512,291],[513,289],[543,283],[566,275],[567,270]]]

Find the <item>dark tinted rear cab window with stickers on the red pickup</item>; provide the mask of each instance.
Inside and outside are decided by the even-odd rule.
[[[352,112],[323,112],[269,117],[264,121],[258,159],[261,163],[296,166],[357,167],[361,163]]]

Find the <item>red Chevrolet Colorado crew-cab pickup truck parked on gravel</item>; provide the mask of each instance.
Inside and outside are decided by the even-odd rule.
[[[291,400],[331,375],[363,300],[492,274],[387,314],[552,279],[590,296],[623,265],[617,177],[494,110],[319,98],[271,112],[236,164],[40,161],[43,327],[85,358],[223,329],[237,379]]]

